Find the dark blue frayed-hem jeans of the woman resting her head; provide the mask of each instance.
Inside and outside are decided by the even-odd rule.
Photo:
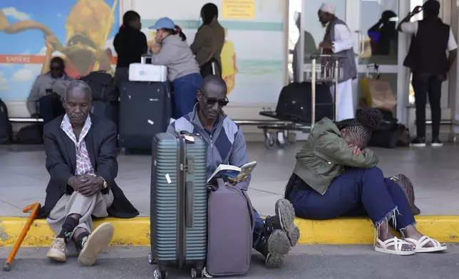
[[[384,178],[378,167],[347,169],[331,181],[324,195],[303,185],[305,189],[294,189],[289,197],[296,216],[301,218],[368,215],[375,226],[388,219],[398,231],[416,223],[401,187]]]

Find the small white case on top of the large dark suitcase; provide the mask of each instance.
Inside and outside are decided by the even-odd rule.
[[[167,67],[146,64],[147,59],[151,59],[151,56],[142,56],[142,63],[129,65],[129,80],[165,83],[167,81]]]

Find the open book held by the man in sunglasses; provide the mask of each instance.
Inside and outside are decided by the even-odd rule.
[[[235,167],[229,164],[220,164],[220,166],[215,169],[212,177],[207,180],[207,183],[210,181],[215,181],[215,179],[218,178],[228,181],[233,185],[247,181],[255,166],[257,166],[257,162],[255,161],[244,164],[242,167]]]

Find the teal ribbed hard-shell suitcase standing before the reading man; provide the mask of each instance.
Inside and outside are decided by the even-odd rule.
[[[199,135],[159,133],[153,139],[150,263],[153,277],[167,266],[205,273],[207,253],[207,144]]]

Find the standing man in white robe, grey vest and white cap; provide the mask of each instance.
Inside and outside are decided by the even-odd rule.
[[[339,58],[339,64],[343,68],[342,76],[338,83],[338,115],[336,120],[354,118],[354,96],[352,92],[352,80],[357,78],[356,58],[354,54],[354,39],[352,33],[344,21],[335,16],[333,4],[322,4],[318,15],[322,26],[326,26],[324,41],[319,43],[319,48],[324,54],[336,54],[344,56]],[[324,62],[324,61],[322,61]],[[326,59],[327,64],[334,64],[332,59]],[[334,98],[335,86],[331,86],[331,95]]]

